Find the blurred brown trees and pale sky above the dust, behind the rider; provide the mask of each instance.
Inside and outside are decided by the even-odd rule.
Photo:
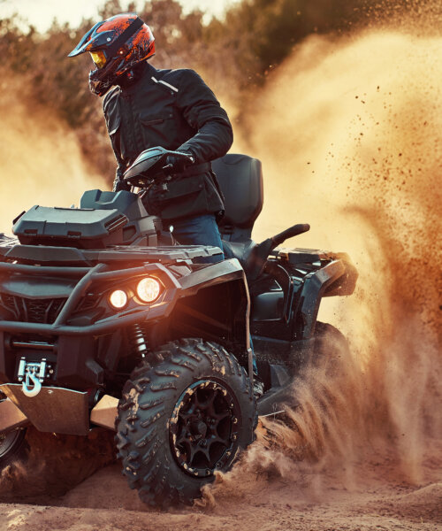
[[[115,164],[102,100],[88,90],[91,59],[86,54],[66,58],[98,19],[138,12],[156,36],[152,64],[193,67],[202,73],[228,107],[237,137],[245,139],[248,127],[254,126],[256,96],[309,35],[328,35],[332,49],[333,42],[343,35],[355,35],[362,27],[379,27],[393,20],[396,27],[408,24],[404,19],[410,13],[415,28],[424,25],[428,12],[433,19],[438,17],[436,32],[441,11],[437,4],[416,0],[95,0],[86,5],[82,0],[0,0],[1,84],[3,94],[14,91],[27,102],[29,112],[42,106],[44,112],[57,117],[78,139],[90,171],[110,184]],[[189,11],[191,7],[199,10]],[[14,90],[17,84],[19,91]],[[248,150],[248,145],[242,147]]]

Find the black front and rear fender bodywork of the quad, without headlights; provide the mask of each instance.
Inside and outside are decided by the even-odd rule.
[[[20,358],[44,357],[56,368],[47,384],[80,391],[106,389],[121,359],[131,358],[126,330],[137,324],[143,325],[152,346],[172,337],[202,336],[223,342],[247,366],[250,296],[250,333],[260,373],[269,373],[271,386],[260,400],[262,414],[274,411],[275,400],[285,396],[281,382],[286,383],[287,374],[297,373],[308,361],[322,296],[349,295],[356,274],[345,255],[280,250],[248,292],[235,259],[212,266],[193,264],[192,258],[216,249],[95,251],[9,243],[0,248],[0,259],[19,258],[22,263],[0,262],[0,381],[16,381]],[[128,260],[130,268],[123,266]],[[155,304],[133,303],[121,312],[110,309],[110,289],[146,275],[156,276],[165,288]],[[54,301],[61,302],[53,307]],[[155,337],[158,323],[167,323],[165,337]],[[278,366],[288,373],[275,380],[271,373],[278,372]]]

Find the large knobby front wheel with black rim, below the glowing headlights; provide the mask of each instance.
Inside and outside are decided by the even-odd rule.
[[[256,404],[244,368],[223,347],[187,339],[151,353],[126,382],[117,446],[146,504],[191,503],[254,440]]]

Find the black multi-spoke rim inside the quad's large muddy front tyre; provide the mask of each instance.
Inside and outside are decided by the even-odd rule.
[[[196,381],[175,405],[170,423],[171,452],[194,477],[228,466],[238,449],[240,406],[217,381]]]

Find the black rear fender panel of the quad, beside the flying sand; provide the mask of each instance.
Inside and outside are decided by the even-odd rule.
[[[346,254],[320,250],[276,250],[264,274],[250,284],[251,333],[258,341],[286,345],[308,340],[315,333],[323,296],[345,296],[354,291],[357,272]],[[279,287],[279,289],[277,287]],[[267,345],[263,350],[272,350]],[[275,358],[273,358],[275,359]]]

